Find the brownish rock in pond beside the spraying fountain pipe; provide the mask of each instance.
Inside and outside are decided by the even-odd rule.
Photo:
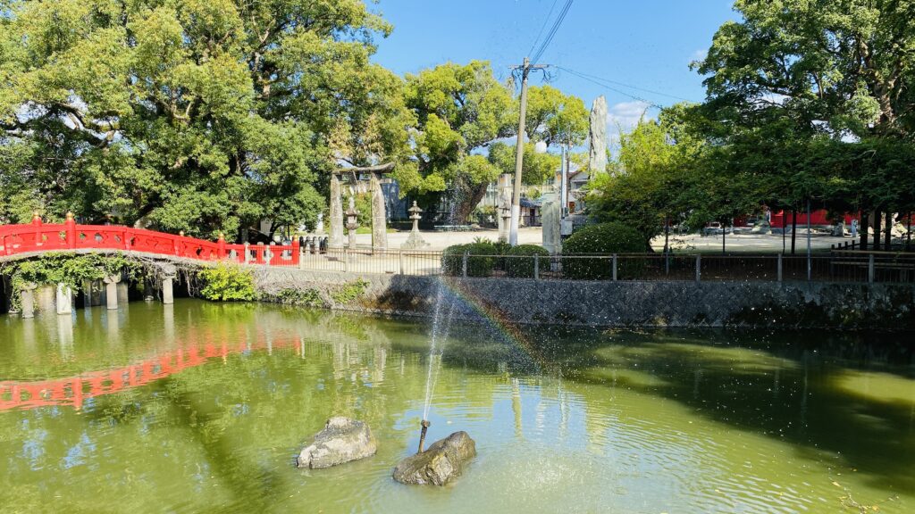
[[[394,480],[402,484],[444,486],[458,477],[467,461],[477,455],[477,444],[466,432],[456,432],[436,441],[425,452],[410,455],[394,468]]]

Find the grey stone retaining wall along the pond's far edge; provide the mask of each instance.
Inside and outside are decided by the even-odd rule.
[[[597,327],[823,327],[915,330],[915,286],[770,282],[581,282],[258,269],[258,290],[317,291],[326,306],[466,321]],[[333,292],[364,281],[358,298]]]

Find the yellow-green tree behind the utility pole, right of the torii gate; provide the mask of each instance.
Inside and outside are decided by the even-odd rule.
[[[514,172],[511,146],[499,142],[518,131],[517,99],[492,75],[490,64],[447,63],[406,78],[406,104],[417,121],[416,166],[394,173],[404,192],[442,196],[455,222],[466,220],[501,173]],[[552,87],[528,91],[527,134],[532,142],[580,144],[587,135],[584,102]],[[489,150],[489,158],[483,156]],[[512,151],[513,152],[513,151]],[[536,155],[525,150],[528,155]],[[558,166],[551,155],[532,156],[528,183],[542,183]],[[545,171],[547,166],[554,166]]]

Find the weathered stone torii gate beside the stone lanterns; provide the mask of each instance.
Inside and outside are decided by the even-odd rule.
[[[381,176],[391,173],[393,163],[379,166],[340,167],[330,172],[330,240],[328,248],[343,248],[343,199],[340,194],[340,176],[350,173],[368,173],[371,191],[371,249],[388,248],[387,215],[384,209]]]

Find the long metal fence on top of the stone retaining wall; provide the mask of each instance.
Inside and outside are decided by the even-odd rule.
[[[915,283],[915,254],[902,252],[522,256],[366,248],[303,252],[299,268],[536,280]]]

